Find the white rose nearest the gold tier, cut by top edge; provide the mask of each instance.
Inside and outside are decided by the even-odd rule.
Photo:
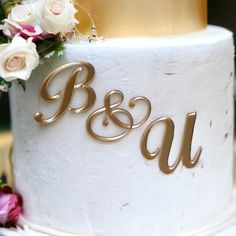
[[[70,0],[45,0],[42,8],[41,27],[52,34],[70,32],[75,24],[77,10]]]

